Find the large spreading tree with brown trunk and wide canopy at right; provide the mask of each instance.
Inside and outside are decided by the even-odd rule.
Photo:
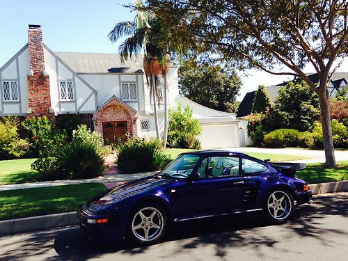
[[[345,0],[148,0],[161,22],[182,28],[175,36],[212,58],[239,69],[301,77],[319,97],[326,167],[335,167],[329,114],[328,81],[333,63],[348,49],[348,1]],[[180,35],[178,36],[180,37]],[[192,40],[193,39],[193,40]],[[212,52],[211,52],[212,53]],[[342,61],[342,60],[341,60]],[[313,65],[315,84],[304,66]],[[338,63],[340,64],[340,63]],[[283,65],[288,72],[276,72]]]

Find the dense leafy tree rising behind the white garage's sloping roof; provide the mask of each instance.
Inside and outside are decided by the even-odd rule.
[[[242,81],[234,70],[187,60],[178,72],[182,95],[219,111],[235,112]]]

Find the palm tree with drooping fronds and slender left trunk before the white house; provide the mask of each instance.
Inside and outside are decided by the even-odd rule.
[[[144,49],[144,61],[143,66],[145,70],[145,76],[152,93],[152,102],[154,104],[155,113],[155,126],[156,136],[160,139],[159,135],[159,122],[157,112],[157,84],[156,79],[163,72],[161,63],[163,57],[163,49],[153,44],[152,38],[154,30],[150,25],[152,17],[148,11],[145,10],[145,6],[141,0],[137,0],[134,3],[134,9],[136,10],[136,17],[134,22],[119,22],[109,33],[109,40],[116,42],[120,38],[126,35],[130,35],[119,47],[121,60],[127,60],[132,58],[132,54],[139,54],[141,49]],[[166,106],[166,105],[165,105]],[[168,117],[167,117],[168,118]]]

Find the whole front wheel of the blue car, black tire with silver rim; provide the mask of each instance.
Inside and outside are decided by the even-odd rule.
[[[141,219],[142,212],[143,220]],[[155,215],[151,217],[154,213]],[[139,228],[136,228],[139,226]],[[159,228],[158,228],[159,227]],[[156,244],[162,239],[167,227],[167,215],[163,208],[157,204],[141,204],[132,210],[129,214],[129,219],[127,223],[127,239],[135,244],[140,244],[142,246],[148,246]],[[147,230],[147,233],[145,232]]]

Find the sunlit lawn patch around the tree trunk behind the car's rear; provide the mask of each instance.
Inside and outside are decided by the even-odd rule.
[[[307,164],[307,168],[296,172],[296,177],[309,184],[348,180],[348,161],[338,161],[338,168],[323,168],[323,164]]]

